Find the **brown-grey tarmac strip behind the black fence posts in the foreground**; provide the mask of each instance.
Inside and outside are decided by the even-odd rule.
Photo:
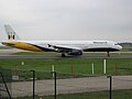
[[[58,94],[90,92],[110,89],[107,76],[57,79]],[[112,90],[132,89],[132,76],[112,76]],[[109,92],[109,91],[108,91]],[[35,95],[54,96],[54,80],[36,80]],[[32,81],[12,82],[12,97],[32,96]]]

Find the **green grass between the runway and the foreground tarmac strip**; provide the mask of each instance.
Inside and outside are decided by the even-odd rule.
[[[24,65],[22,65],[22,62],[24,62]],[[91,72],[92,63],[95,64],[94,75]],[[53,65],[55,66],[58,78],[105,75],[103,58],[0,59],[0,67],[11,69],[13,75],[20,76],[20,80],[29,80],[29,78],[32,78],[30,70],[36,72],[37,79],[52,78],[51,72]],[[106,75],[132,75],[132,58],[108,58]]]

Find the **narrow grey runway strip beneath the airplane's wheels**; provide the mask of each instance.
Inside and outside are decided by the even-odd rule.
[[[110,57],[107,57],[106,55],[82,55],[66,57],[62,57],[59,55],[0,55],[0,58],[132,58],[132,55],[111,55]]]

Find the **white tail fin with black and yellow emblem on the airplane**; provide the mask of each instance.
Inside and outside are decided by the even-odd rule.
[[[13,29],[10,25],[4,25],[4,28],[9,41],[20,40],[20,37],[16,35],[16,33],[13,31]]]

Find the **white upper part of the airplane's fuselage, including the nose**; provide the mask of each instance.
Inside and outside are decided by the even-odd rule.
[[[107,52],[110,51],[120,51],[122,47],[111,41],[19,41],[36,46],[41,46],[48,50],[54,50],[54,47],[48,47],[48,44],[55,46],[63,46],[68,48],[77,48],[84,52]]]

